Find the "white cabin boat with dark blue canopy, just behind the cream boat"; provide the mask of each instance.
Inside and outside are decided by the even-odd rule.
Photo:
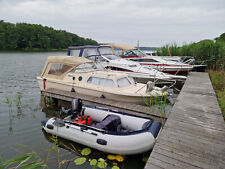
[[[128,46],[129,48],[129,46]],[[129,61],[116,56],[110,46],[74,46],[68,48],[69,56],[85,57],[101,64],[104,68],[114,72],[123,72],[135,79],[136,82],[155,84],[173,84],[176,80],[185,81],[184,76],[168,75],[149,66]]]

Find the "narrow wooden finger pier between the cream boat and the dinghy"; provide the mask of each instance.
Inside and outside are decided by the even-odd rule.
[[[166,119],[169,115],[169,111],[162,113],[158,108],[150,108],[143,105],[119,102],[109,99],[103,99],[93,96],[86,96],[77,94],[74,92],[61,91],[56,89],[47,89],[41,91],[43,96],[52,97],[59,100],[69,101],[71,102],[73,98],[81,98],[84,104],[87,105],[95,105],[100,107],[106,107],[114,110],[118,110],[121,112],[126,112],[128,114],[133,114],[142,117],[149,117],[157,121],[162,121],[162,118]]]

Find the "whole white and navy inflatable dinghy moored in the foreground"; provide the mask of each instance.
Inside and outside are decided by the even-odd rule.
[[[70,115],[63,120],[42,121],[43,129],[100,151],[129,155],[152,149],[161,128],[161,123],[152,119],[102,107],[83,105],[81,112],[82,118],[91,118],[92,124],[79,124]]]

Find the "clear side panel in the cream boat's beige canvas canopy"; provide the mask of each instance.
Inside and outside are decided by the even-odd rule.
[[[51,65],[51,68],[50,68],[48,74],[60,76],[63,73],[67,72],[71,68],[72,68],[72,66],[69,66],[69,65],[54,63]]]

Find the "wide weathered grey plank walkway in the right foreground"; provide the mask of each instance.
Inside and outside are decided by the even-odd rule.
[[[145,169],[225,168],[225,123],[208,73],[192,72]]]

